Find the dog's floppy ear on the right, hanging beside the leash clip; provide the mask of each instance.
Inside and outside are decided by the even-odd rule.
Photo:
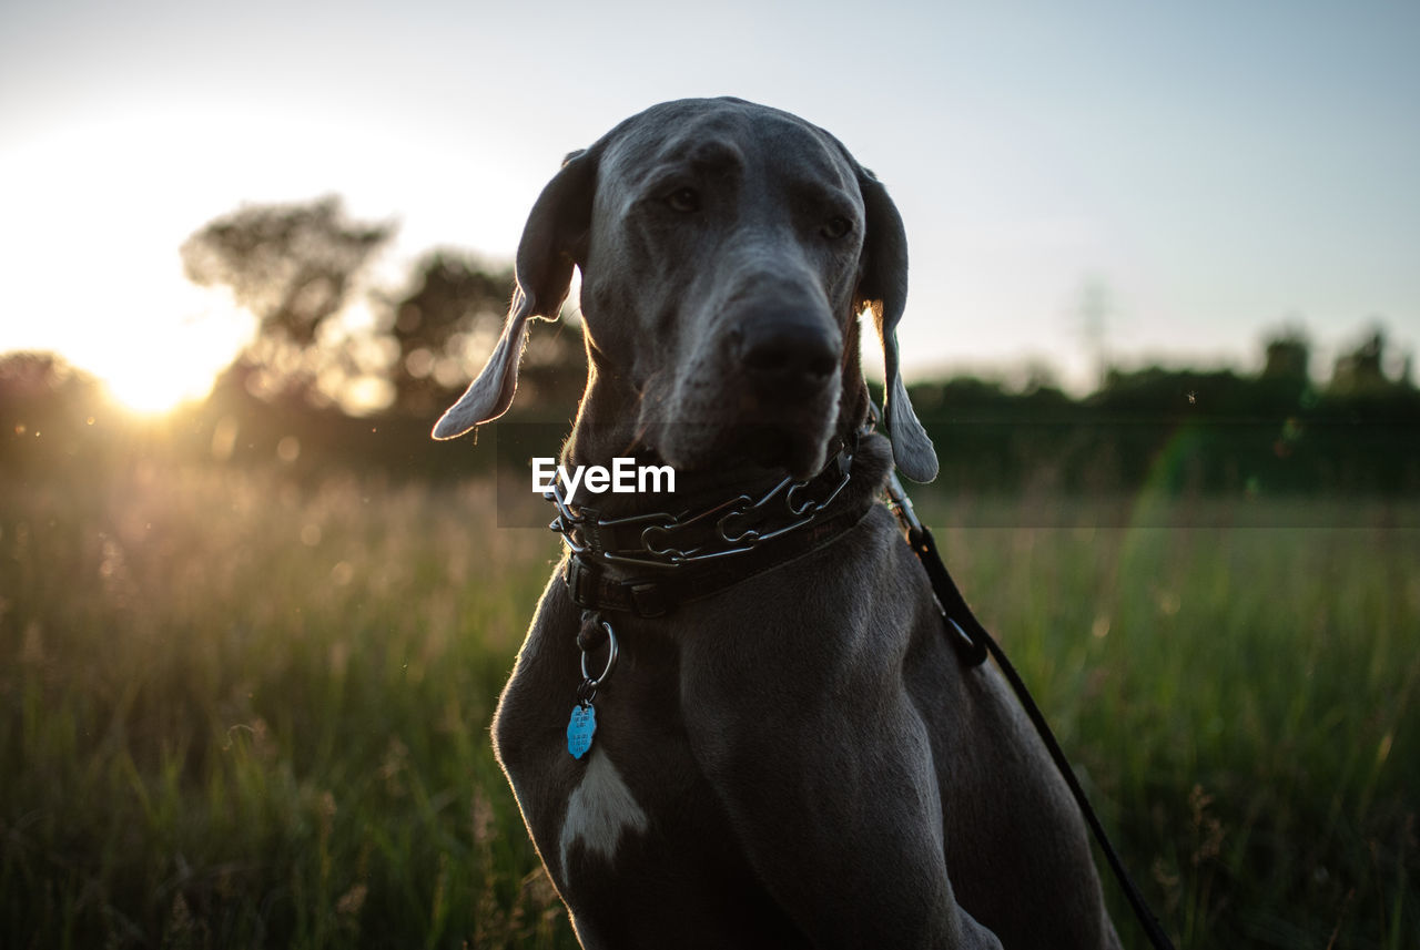
[[[873,311],[883,346],[883,421],[892,440],[893,461],[914,482],[937,476],[937,454],[907,400],[907,387],[897,370],[897,320],[907,305],[907,233],[897,206],[888,197],[872,172],[859,166],[858,187],[868,216],[863,234],[863,265],[858,279],[853,312]]]

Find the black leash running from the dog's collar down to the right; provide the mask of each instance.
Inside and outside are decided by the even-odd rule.
[[[1079,780],[1075,778],[1075,770],[1071,769],[1069,760],[1055,740],[1055,733],[1051,732],[1049,725],[1045,722],[1045,715],[1035,705],[1031,692],[1025,688],[1025,682],[1015,672],[1015,666],[1005,658],[1005,651],[1001,649],[1001,645],[995,642],[985,627],[971,613],[971,608],[967,607],[966,598],[961,597],[961,591],[957,590],[951,574],[947,573],[947,567],[941,561],[941,554],[937,552],[937,542],[932,537],[932,532],[927,530],[926,525],[917,520],[917,515],[912,509],[912,501],[903,491],[902,482],[897,481],[896,472],[888,476],[888,498],[892,501],[893,512],[897,515],[897,520],[907,535],[907,544],[917,556],[917,560],[922,561],[927,577],[932,580],[932,590],[937,596],[937,604],[941,607],[941,618],[946,621],[947,632],[953,637],[953,644],[957,647],[957,652],[961,654],[963,662],[971,666],[980,665],[985,661],[988,652],[995,659],[1007,682],[1011,683],[1011,689],[1015,691],[1015,698],[1025,709],[1025,715],[1030,716],[1031,723],[1035,726],[1035,732],[1039,733],[1041,740],[1045,743],[1045,749],[1051,753],[1051,759],[1055,761],[1061,777],[1065,778],[1071,794],[1075,795],[1075,804],[1079,805],[1081,814],[1085,815],[1085,822],[1095,834],[1095,841],[1099,842],[1100,851],[1105,852],[1105,858],[1115,872],[1115,879],[1119,881],[1120,889],[1129,899],[1129,906],[1135,910],[1135,917],[1139,919],[1145,933],[1149,934],[1149,941],[1159,950],[1173,950],[1169,934],[1163,932],[1159,919],[1149,909],[1133,878],[1125,869],[1125,862],[1119,858],[1115,846],[1109,844],[1105,827],[1099,822],[1099,817],[1091,807],[1089,798],[1085,797],[1085,790],[1081,788]]]

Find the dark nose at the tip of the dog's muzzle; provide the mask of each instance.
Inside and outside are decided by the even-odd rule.
[[[842,335],[794,319],[746,320],[736,333],[740,366],[763,396],[808,396],[838,369]]]

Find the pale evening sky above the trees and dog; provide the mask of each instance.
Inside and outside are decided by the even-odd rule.
[[[375,281],[436,245],[510,258],[567,152],[737,95],[886,183],[909,379],[1250,370],[1284,323],[1325,377],[1377,322],[1420,342],[1417,50],[1400,0],[7,0],[0,352],[199,397],[254,328],[182,275],[206,221],[338,193],[400,225]]]

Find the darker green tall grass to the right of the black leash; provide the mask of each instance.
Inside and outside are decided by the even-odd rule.
[[[1143,501],[927,510],[1181,947],[1420,946],[1414,505]]]

